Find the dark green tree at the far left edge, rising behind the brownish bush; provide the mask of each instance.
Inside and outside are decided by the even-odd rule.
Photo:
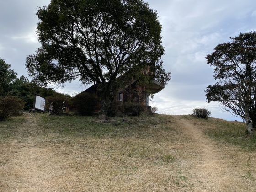
[[[15,80],[17,74],[11,69],[10,64],[6,64],[4,59],[0,58],[0,96],[3,92],[8,92],[10,83]]]

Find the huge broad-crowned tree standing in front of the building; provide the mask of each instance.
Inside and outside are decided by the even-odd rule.
[[[154,63],[156,77],[170,80],[160,60],[164,48],[157,13],[143,0],[52,0],[37,16],[42,47],[27,57],[29,74],[43,84],[76,78],[101,84],[103,115],[117,77],[126,71]]]

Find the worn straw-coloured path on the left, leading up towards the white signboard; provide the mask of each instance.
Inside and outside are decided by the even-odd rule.
[[[59,176],[60,169],[55,166],[52,149],[40,146],[43,140],[37,138],[40,131],[38,117],[26,116],[26,123],[22,124],[11,141],[11,149],[14,150],[10,164],[11,188],[6,191],[53,192],[56,190],[53,179]]]

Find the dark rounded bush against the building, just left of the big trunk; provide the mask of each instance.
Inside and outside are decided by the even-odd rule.
[[[99,99],[95,94],[82,92],[72,98],[72,107],[80,115],[93,115],[99,107]]]

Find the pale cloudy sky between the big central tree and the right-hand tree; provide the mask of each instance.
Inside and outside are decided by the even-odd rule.
[[[213,68],[205,56],[219,43],[240,32],[255,30],[253,0],[148,0],[163,26],[165,68],[172,80],[155,95],[154,103],[164,114],[190,114],[193,108],[209,108],[213,117],[240,119],[223,112],[216,103],[206,103],[204,90],[214,83]]]

